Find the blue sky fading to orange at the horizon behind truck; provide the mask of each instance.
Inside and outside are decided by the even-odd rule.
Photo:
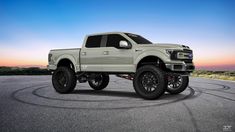
[[[235,70],[234,0],[0,0],[0,66],[46,66],[50,49],[109,31],[185,44],[197,68]]]

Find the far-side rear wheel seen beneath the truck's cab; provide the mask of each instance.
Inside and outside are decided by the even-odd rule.
[[[109,75],[107,74],[96,74],[94,79],[88,81],[91,88],[94,90],[102,90],[109,84]]]

